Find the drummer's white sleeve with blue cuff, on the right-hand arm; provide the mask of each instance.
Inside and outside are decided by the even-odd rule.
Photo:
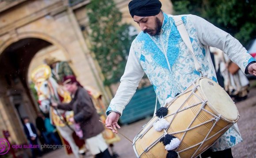
[[[216,47],[224,51],[245,73],[246,66],[255,61],[242,44],[222,29],[214,26],[205,19],[196,15],[192,16],[192,22],[197,30],[200,42],[204,45]]]

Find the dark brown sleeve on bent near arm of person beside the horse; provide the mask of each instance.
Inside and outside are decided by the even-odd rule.
[[[94,105],[90,99],[88,92],[86,92],[86,90],[83,90],[78,94],[77,100],[78,100],[78,107],[80,107],[80,109],[79,109],[79,113],[75,114],[74,120],[75,122],[79,123],[90,118],[92,114],[94,114],[96,109],[94,108]]]

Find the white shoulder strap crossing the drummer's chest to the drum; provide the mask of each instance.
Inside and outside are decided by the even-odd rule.
[[[193,56],[196,70],[200,71],[200,73],[201,73],[201,66],[200,66],[198,60],[196,59],[190,38],[188,36],[188,32],[184,26],[183,20],[181,19],[181,15],[173,15],[173,19],[174,19],[175,25],[177,26],[177,29],[181,35],[182,40],[184,41],[184,43],[186,44],[186,46],[188,47],[189,51],[191,52],[191,54]]]

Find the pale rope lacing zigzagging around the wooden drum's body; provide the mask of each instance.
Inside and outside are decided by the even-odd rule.
[[[207,103],[207,100],[201,99],[200,96],[198,96],[198,95],[196,94],[197,87],[200,87],[200,85],[196,85],[195,83],[196,83],[196,81],[193,82],[194,88],[193,88],[192,90],[189,90],[189,91],[186,91],[186,90],[185,90],[184,92],[182,92],[181,94],[179,94],[178,96],[176,96],[176,97],[169,103],[169,105],[167,106],[167,108],[169,108],[169,107],[172,105],[172,103],[173,103],[179,96],[184,95],[184,94],[186,94],[186,93],[188,93],[188,92],[191,92],[191,93],[189,94],[188,98],[181,104],[181,106],[178,108],[178,110],[177,110],[176,112],[174,112],[174,113],[172,113],[172,114],[169,114],[169,115],[166,115],[166,116],[164,117],[164,118],[166,118],[166,117],[169,117],[169,116],[172,116],[172,115],[173,115],[173,118],[172,118],[172,120],[170,121],[170,125],[171,125],[172,122],[173,122],[173,120],[174,120],[174,118],[175,118],[175,116],[177,115],[177,113],[179,113],[179,112],[181,112],[181,111],[184,111],[184,110],[187,110],[188,108],[197,106],[197,105],[199,105],[199,104],[202,104],[201,107],[200,107],[199,112],[196,114],[196,116],[194,117],[194,119],[191,121],[190,125],[188,125],[187,129],[182,130],[182,131],[178,131],[178,132],[171,132],[171,133],[168,133],[168,130],[166,131],[166,129],[164,129],[163,135],[160,136],[160,137],[159,137],[157,140],[155,140],[153,143],[151,143],[148,147],[146,147],[146,148],[144,149],[144,151],[139,155],[139,157],[141,157],[145,152],[148,152],[152,147],[154,147],[154,145],[156,145],[156,144],[160,141],[160,139],[161,139],[163,136],[165,136],[166,134],[173,135],[173,134],[177,134],[177,133],[184,132],[184,134],[183,134],[183,136],[182,136],[182,138],[181,138],[181,142],[182,142],[182,140],[184,139],[185,134],[186,134],[189,130],[195,129],[195,128],[197,128],[197,127],[199,127],[199,126],[201,126],[201,125],[207,124],[207,123],[209,123],[209,122],[211,122],[211,121],[215,121],[214,124],[212,125],[211,129],[209,130],[209,132],[207,133],[207,135],[206,135],[205,138],[203,139],[203,141],[201,141],[200,143],[197,143],[197,144],[195,144],[195,145],[193,145],[193,146],[191,146],[191,147],[185,148],[185,149],[183,149],[183,150],[181,150],[181,151],[178,151],[178,148],[179,148],[179,147],[177,147],[177,149],[175,150],[175,151],[177,152],[178,156],[179,156],[179,153],[181,153],[181,152],[183,152],[183,151],[186,151],[186,150],[188,150],[188,149],[191,149],[191,148],[193,148],[193,147],[196,147],[196,146],[200,145],[200,146],[197,148],[197,150],[194,152],[194,154],[192,155],[192,157],[194,157],[195,154],[196,154],[196,152],[200,150],[200,147],[203,145],[204,142],[206,142],[207,140],[210,140],[211,138],[213,138],[214,136],[218,135],[218,134],[221,133],[222,131],[224,131],[224,130],[230,128],[230,127],[235,123],[235,121],[233,121],[233,124],[227,125],[226,127],[224,127],[223,129],[221,129],[220,131],[216,132],[216,133],[215,133],[214,135],[212,135],[211,137],[207,138],[207,137],[209,136],[209,134],[211,133],[211,131],[214,129],[216,123],[220,120],[221,114],[219,114],[218,116],[216,116],[215,114],[211,113],[210,111],[204,109],[204,107],[205,107],[205,105],[206,105],[206,103]],[[184,104],[188,101],[188,99],[191,98],[192,95],[194,95],[194,96],[196,96],[198,99],[200,99],[201,102],[200,102],[200,103],[193,104],[193,105],[191,105],[191,106],[189,106],[189,107],[184,107],[183,109],[181,109],[181,107],[184,106]],[[167,104],[166,104],[166,105],[167,105]],[[202,122],[202,123],[199,124],[199,125],[196,125],[196,126],[190,128],[190,126],[191,126],[192,123],[196,120],[197,116],[200,114],[200,112],[201,112],[202,110],[205,111],[205,112],[207,112],[208,114],[211,114],[211,115],[213,116],[213,118],[211,118],[211,119],[208,120],[208,121]],[[151,120],[152,120],[152,119],[151,119]],[[157,119],[157,120],[158,120],[158,119]],[[169,126],[170,126],[170,125],[169,125]],[[144,129],[145,126],[146,126],[146,125],[143,126],[143,129]],[[145,129],[144,131],[143,131],[143,129],[141,129],[140,132],[143,131],[143,133],[141,133],[138,137],[141,139],[152,127],[153,127],[153,124],[150,125],[150,126],[149,126],[147,129]],[[167,129],[169,129],[169,127],[168,127]],[[139,140],[139,139],[137,139],[137,140]],[[136,140],[136,141],[137,141],[137,140]],[[135,144],[136,141],[135,141],[133,144]]]

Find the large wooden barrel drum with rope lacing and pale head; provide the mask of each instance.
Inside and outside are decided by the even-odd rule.
[[[154,116],[133,140],[138,158],[166,158],[161,138],[166,134],[177,137],[180,144],[173,149],[181,158],[193,158],[207,150],[239,118],[236,105],[215,81],[198,78],[183,93],[166,104],[168,113],[163,118],[166,129],[157,131]]]

